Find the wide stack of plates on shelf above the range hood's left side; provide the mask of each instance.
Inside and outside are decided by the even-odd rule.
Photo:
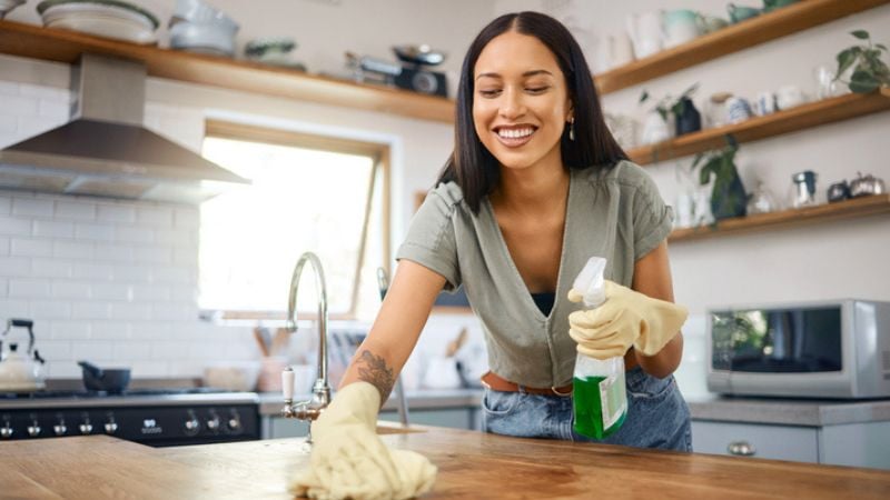
[[[156,43],[158,19],[120,0],[46,0],[37,6],[43,26],[134,43]]]

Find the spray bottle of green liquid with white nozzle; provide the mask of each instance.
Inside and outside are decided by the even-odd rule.
[[[601,257],[591,257],[572,284],[587,308],[605,302],[605,263]],[[621,428],[627,416],[623,357],[600,360],[577,354],[572,384],[575,432],[602,439]]]

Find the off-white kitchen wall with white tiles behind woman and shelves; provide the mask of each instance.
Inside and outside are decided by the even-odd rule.
[[[33,13],[36,3],[29,1],[26,7],[13,11],[10,18],[38,22]],[[633,11],[691,7],[725,17],[725,2],[719,0],[466,0],[456,3],[283,0],[250,2],[249,8],[247,2],[218,0],[210,3],[241,22],[241,44],[258,36],[294,36],[300,43],[297,59],[306,62],[310,70],[326,72],[342,70],[345,50],[392,58],[389,44],[402,41],[426,41],[443,48],[451,54],[445,68],[454,72],[472,37],[487,20],[496,13],[518,9],[543,10],[564,19],[576,31],[589,58],[595,53],[597,39],[622,30],[624,18]],[[155,4],[159,17],[166,19],[171,11],[171,2]],[[374,12],[369,12],[372,8]],[[269,16],[270,12],[274,14]],[[858,28],[869,30],[877,41],[890,42],[890,6],[624,89],[605,96],[603,101],[611,112],[642,118],[644,108],[637,106],[636,101],[643,89],[649,89],[654,96],[668,92],[675,94],[699,81],[701,88],[695,101],[700,108],[705,97],[722,90],[753,97],[762,90],[794,83],[812,91],[812,69],[820,63],[831,63],[840,49],[852,44],[854,40],[847,33]],[[66,66],[0,56],[0,147],[62,122],[67,113],[67,86]],[[452,129],[441,123],[158,79],[149,79],[147,93],[147,124],[192,149],[198,149],[200,144],[204,120],[207,118],[388,143],[393,150],[394,246],[398,244],[411,219],[413,193],[429,186],[452,146]],[[857,170],[890,181],[887,130],[890,130],[890,113],[873,114],[743,144],[738,161],[749,190],[755,186],[754,179],[760,179],[780,198],[785,196],[791,173],[804,169],[819,173],[820,188],[842,178],[851,179]],[[689,162],[686,158],[676,163],[666,162],[647,168],[669,203],[673,202],[678,192],[675,169]],[[21,310],[26,308],[39,321],[49,322],[52,341],[59,342],[48,346],[55,350],[53,356],[72,360],[76,356],[66,353],[68,350],[88,353],[92,352],[90,348],[80,346],[96,343],[99,347],[95,350],[108,353],[109,360],[132,362],[139,368],[137,374],[142,376],[199,373],[205,362],[192,361],[181,353],[198,352],[208,346],[217,347],[209,349],[212,356],[202,358],[207,362],[210,358],[256,357],[256,350],[246,338],[246,330],[214,328],[185,316],[174,319],[155,316],[156,311],[169,311],[165,304],[174,306],[172,302],[180,307],[187,303],[178,309],[179,312],[194,309],[194,300],[181,301],[194,297],[195,266],[191,261],[182,260],[188,259],[186,253],[194,253],[192,243],[168,238],[185,229],[177,226],[185,223],[180,219],[194,222],[195,212],[191,209],[12,192],[2,192],[0,197],[0,304],[3,304],[0,310],[19,308],[19,312],[26,312]],[[79,207],[77,211],[68,210],[75,206]],[[109,210],[131,214],[132,222],[105,219]],[[164,216],[162,222],[155,219],[150,222],[145,216],[139,219],[140,213],[157,211],[169,214],[169,218]],[[60,224],[65,229],[52,234],[41,229],[55,227],[52,224]],[[128,241],[125,236],[121,240],[120,228],[134,226],[146,229],[152,238]],[[127,234],[126,230],[123,234]],[[89,251],[72,257],[66,253],[68,244],[86,246],[81,248],[89,248]],[[710,306],[837,297],[890,300],[890,284],[883,278],[890,276],[887,248],[890,248],[890,219],[886,217],[673,244],[671,253],[676,299],[688,304],[693,313],[686,327],[689,340],[685,360],[694,370],[700,369],[704,328],[702,314]],[[115,251],[132,260],[121,263],[111,254]],[[178,261],[177,256],[180,259]],[[155,260],[144,260],[149,258]],[[68,273],[65,280],[41,276],[41,270],[36,270],[47,259],[61,262],[59,266]],[[30,270],[22,274],[28,266]],[[112,276],[85,276],[85,266],[110,267]],[[147,283],[138,280],[116,281],[115,270],[129,267],[144,269],[152,278]],[[164,270],[170,268],[184,269],[189,282],[155,281],[156,272],[162,274]],[[58,284],[60,282],[66,284]],[[57,290],[78,283],[86,287],[81,288],[83,297],[90,297],[82,301],[99,303],[99,309],[106,311],[103,314],[108,317],[78,318],[76,312],[80,309],[75,308],[75,299],[55,296]],[[169,291],[169,300],[166,291],[157,292],[160,297],[149,300],[147,308],[130,309],[138,318],[121,318],[118,314],[126,308],[116,302],[118,299],[101,298],[105,284],[122,284],[127,288],[128,298],[136,298],[137,290],[141,290],[139,287],[158,286]],[[28,297],[22,297],[22,293]],[[48,306],[68,300],[70,303],[67,308]],[[125,303],[138,306],[144,302],[130,300]],[[161,323],[162,332],[152,337],[149,330],[156,322]],[[424,336],[424,339],[434,339],[428,342],[436,344],[428,348],[429,352],[437,352],[437,344],[443,339],[449,340],[456,329],[464,324],[474,326],[472,319],[459,316],[433,318],[427,328],[438,333]],[[68,331],[73,333],[66,333]],[[56,338],[57,334],[69,337]],[[168,343],[167,348],[154,348],[158,339],[184,344],[176,347]],[[146,346],[149,341],[151,347]],[[71,373],[69,368],[62,371]]]

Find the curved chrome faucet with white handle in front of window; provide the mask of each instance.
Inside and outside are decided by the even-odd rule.
[[[297,266],[294,268],[294,276],[290,279],[290,296],[287,301],[287,323],[286,328],[290,333],[297,332],[297,289],[303,267],[306,262],[313,264],[315,270],[315,289],[318,293],[318,379],[313,386],[313,396],[308,401],[294,402],[294,370],[288,367],[281,372],[281,388],[284,392],[285,407],[281,416],[288,419],[299,419],[309,421],[309,432],[306,442],[312,442],[312,423],[325,411],[330,403],[330,384],[327,378],[327,287],[325,286],[325,273],[322,270],[322,261],[313,252],[300,256]]]

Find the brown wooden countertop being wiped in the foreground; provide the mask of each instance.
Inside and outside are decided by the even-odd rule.
[[[438,469],[424,498],[886,499],[890,472],[640,450],[473,431],[390,433]],[[148,448],[105,436],[0,443],[0,497],[289,498],[301,439]]]

